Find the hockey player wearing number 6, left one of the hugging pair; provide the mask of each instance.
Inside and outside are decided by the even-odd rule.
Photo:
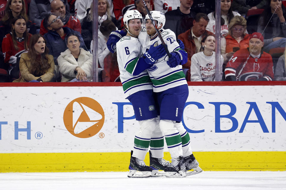
[[[128,177],[158,176],[157,171],[164,170],[169,163],[162,159],[164,136],[156,122],[158,106],[154,99],[152,82],[145,69],[153,65],[149,64],[150,59],[157,60],[164,56],[166,51],[162,45],[151,46],[142,57],[142,46],[137,38],[142,29],[141,14],[137,10],[128,10],[123,22],[128,33],[116,43],[120,80],[125,98],[132,103],[136,120],[140,125],[134,138]],[[150,167],[144,163],[149,146]]]

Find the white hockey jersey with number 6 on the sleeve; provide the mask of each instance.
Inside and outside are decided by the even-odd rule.
[[[142,57],[142,46],[138,38],[125,36],[116,43],[117,61],[120,80],[125,98],[131,94],[152,89],[152,82],[147,70],[133,76],[137,61]]]

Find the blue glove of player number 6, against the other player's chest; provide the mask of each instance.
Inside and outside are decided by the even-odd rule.
[[[143,55],[144,61],[148,64],[157,63],[158,59],[167,54],[162,44],[156,46],[155,43],[153,43],[153,45],[150,46],[150,49]]]

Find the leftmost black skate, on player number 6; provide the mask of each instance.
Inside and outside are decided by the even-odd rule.
[[[128,178],[148,178],[151,176],[152,169],[146,166],[144,160],[140,160],[132,156],[133,151],[131,151],[131,158],[129,164]]]

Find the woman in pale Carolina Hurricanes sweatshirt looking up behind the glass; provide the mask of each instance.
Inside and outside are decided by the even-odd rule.
[[[191,81],[214,81],[215,69],[223,66],[223,56],[219,65],[215,65],[215,37],[207,35],[202,39],[203,52],[195,53],[191,60]],[[223,73],[220,74],[222,79]]]

